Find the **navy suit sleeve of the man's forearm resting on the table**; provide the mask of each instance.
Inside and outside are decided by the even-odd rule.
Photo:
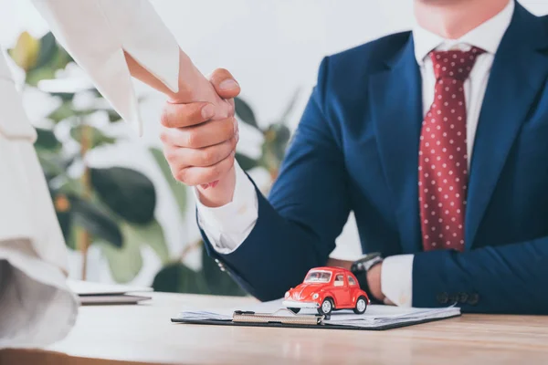
[[[414,307],[456,300],[465,312],[547,314],[546,287],[548,237],[465,253],[424,252],[413,262]]]

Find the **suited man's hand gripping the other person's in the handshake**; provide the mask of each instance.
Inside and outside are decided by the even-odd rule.
[[[232,201],[236,185],[234,159],[239,136],[233,98],[240,88],[226,69],[216,69],[210,82],[229,104],[229,117],[216,119],[215,108],[207,102],[184,104],[172,99],[163,107],[160,137],[174,178],[197,186],[205,205],[222,206]]]

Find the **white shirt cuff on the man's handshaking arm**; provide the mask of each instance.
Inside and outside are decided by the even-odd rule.
[[[232,202],[211,208],[200,202],[200,193],[193,189],[198,211],[198,224],[209,243],[219,254],[230,254],[251,233],[258,218],[258,198],[246,172],[235,162],[236,187]]]

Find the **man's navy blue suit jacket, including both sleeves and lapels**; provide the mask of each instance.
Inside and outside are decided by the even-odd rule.
[[[256,226],[235,252],[209,254],[259,299],[282,297],[326,263],[353,210],[364,252],[415,254],[415,307],[464,297],[463,311],[548,313],[547,76],[548,17],[516,4],[479,116],[466,250],[423,252],[413,36],[326,57]]]

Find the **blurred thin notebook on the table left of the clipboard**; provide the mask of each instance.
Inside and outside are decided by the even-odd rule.
[[[82,306],[137,304],[151,297],[135,295],[152,292],[152,287],[130,287],[118,284],[101,284],[90,281],[67,280],[68,287],[79,296]]]

